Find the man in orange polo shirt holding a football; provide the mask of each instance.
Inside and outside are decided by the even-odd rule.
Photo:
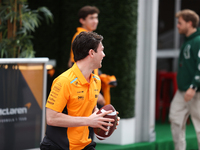
[[[46,103],[46,136],[41,150],[95,150],[89,137],[90,127],[108,131],[113,119],[96,114],[100,78],[92,71],[101,67],[105,57],[103,37],[94,32],[82,32],[74,40],[74,65],[58,76],[52,84]]]

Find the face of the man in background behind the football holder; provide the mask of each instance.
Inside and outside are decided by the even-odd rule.
[[[90,14],[85,19],[82,19],[81,24],[82,27],[88,31],[94,31],[97,29],[97,25],[99,23],[98,14]]]

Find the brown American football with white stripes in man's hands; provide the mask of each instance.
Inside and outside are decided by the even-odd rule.
[[[97,114],[100,114],[100,113],[103,113],[103,112],[109,111],[109,110],[112,110],[113,112],[105,115],[104,117],[114,119],[115,121],[111,122],[113,124],[113,126],[104,126],[105,128],[108,129],[108,131],[104,131],[100,128],[94,128],[94,133],[99,140],[105,140],[107,137],[109,137],[113,133],[113,131],[115,130],[115,128],[117,126],[117,119],[118,119],[117,112],[111,104],[108,104],[108,105],[105,105],[104,107],[102,107],[97,112]]]

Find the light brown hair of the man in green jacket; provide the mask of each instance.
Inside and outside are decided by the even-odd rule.
[[[184,9],[176,14],[176,17],[182,17],[186,22],[191,21],[193,28],[197,28],[199,24],[199,16],[190,9]]]

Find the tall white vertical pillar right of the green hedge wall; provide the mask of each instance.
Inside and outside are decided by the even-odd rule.
[[[138,1],[135,142],[155,140],[158,0]]]

